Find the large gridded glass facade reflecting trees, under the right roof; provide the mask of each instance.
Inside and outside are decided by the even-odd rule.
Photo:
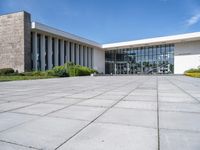
[[[108,50],[106,74],[172,74],[174,44]]]

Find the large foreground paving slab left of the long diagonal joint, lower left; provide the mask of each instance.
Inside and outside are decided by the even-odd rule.
[[[85,121],[43,117],[0,134],[0,140],[38,149],[55,149],[86,125]]]

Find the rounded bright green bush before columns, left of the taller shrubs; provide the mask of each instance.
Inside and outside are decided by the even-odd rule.
[[[58,76],[58,77],[68,77],[69,76],[67,68],[65,66],[56,66],[52,70],[53,70],[53,72],[51,72],[51,73],[53,73],[54,76]]]

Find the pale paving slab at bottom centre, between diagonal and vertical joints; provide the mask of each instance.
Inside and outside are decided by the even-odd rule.
[[[94,123],[58,150],[156,150],[157,147],[155,129]]]

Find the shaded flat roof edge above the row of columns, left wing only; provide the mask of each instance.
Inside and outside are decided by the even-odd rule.
[[[61,30],[52,28],[50,26],[47,26],[47,25],[44,25],[44,24],[41,24],[41,23],[38,23],[38,22],[32,22],[31,27],[32,27],[32,29],[40,30],[40,31],[47,32],[47,33],[50,33],[50,34],[54,34],[54,35],[57,35],[57,36],[61,36],[61,37],[67,38],[67,39],[71,39],[71,40],[74,40],[74,41],[78,41],[78,42],[81,42],[81,43],[85,43],[85,44],[88,44],[88,45],[92,45],[92,46],[95,46],[95,47],[102,48],[102,45],[97,43],[97,42],[94,42],[92,40],[88,40],[86,38],[82,38],[80,36],[77,36],[77,35],[74,35],[74,34],[71,34],[71,33],[65,32],[65,31],[61,31]]]

